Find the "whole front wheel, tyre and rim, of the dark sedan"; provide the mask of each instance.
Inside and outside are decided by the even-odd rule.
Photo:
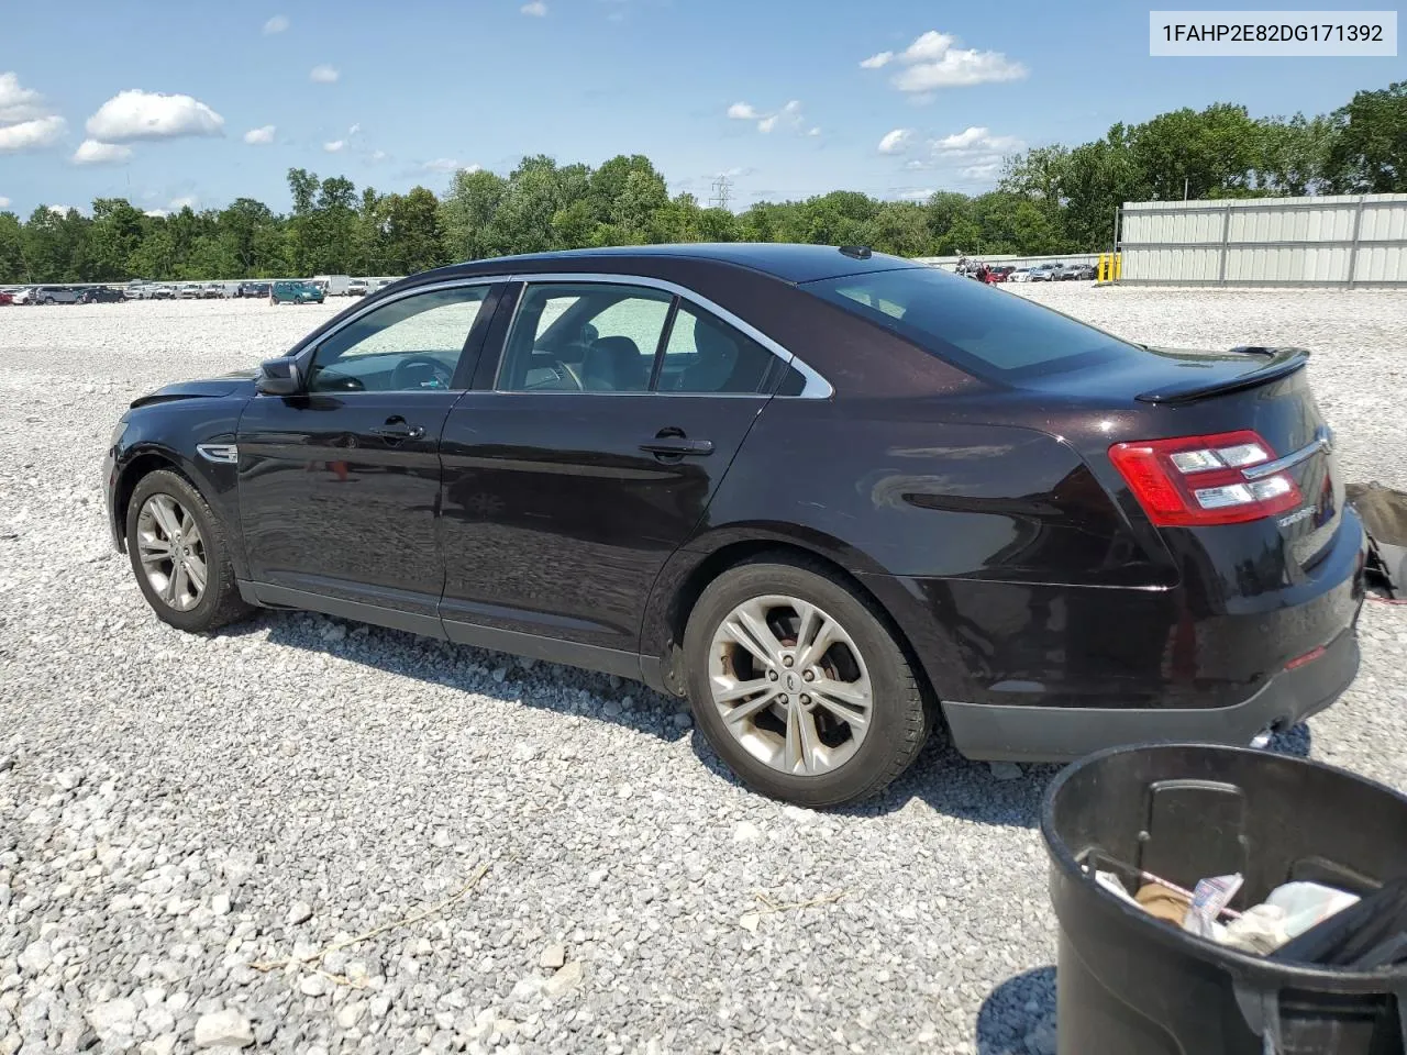
[[[156,616],[205,633],[248,616],[225,532],[191,484],[158,470],[142,477],[127,505],[127,553]]]

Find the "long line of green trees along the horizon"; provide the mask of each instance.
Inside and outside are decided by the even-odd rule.
[[[507,253],[696,241],[900,256],[1097,250],[1124,201],[1407,191],[1407,82],[1309,118],[1252,118],[1217,103],[1116,124],[1093,142],[1007,158],[993,191],[926,201],[840,190],[734,214],[671,197],[643,155],[598,167],[537,155],[507,176],[461,170],[443,196],[357,193],[342,176],[290,169],[288,191],[284,214],[253,198],[170,215],[125,198],[97,198],[91,215],[0,212],[0,283],[411,274]]]

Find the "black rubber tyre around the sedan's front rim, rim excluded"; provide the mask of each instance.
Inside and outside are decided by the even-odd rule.
[[[190,512],[200,529],[204,543],[205,557],[205,589],[200,601],[190,609],[182,612],[172,608],[156,592],[142,568],[142,558],[138,549],[138,519],[142,505],[152,495],[169,495]],[[197,491],[186,477],[167,468],[148,473],[132,490],[132,497],[127,504],[127,556],[132,564],[132,574],[136,585],[152,606],[156,618],[170,623],[179,630],[190,633],[210,633],[227,623],[234,623],[249,618],[253,606],[245,603],[239,596],[239,587],[235,582],[235,568],[229,563],[229,543],[225,537],[225,528],[219,522],[214,509],[205,502],[204,495]]]

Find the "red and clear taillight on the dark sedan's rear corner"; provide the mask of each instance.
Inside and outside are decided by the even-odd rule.
[[[1254,432],[1116,443],[1109,460],[1159,528],[1247,523],[1303,499],[1289,473],[1247,473],[1275,459]]]

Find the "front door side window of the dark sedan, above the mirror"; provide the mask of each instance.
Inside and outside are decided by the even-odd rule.
[[[367,312],[324,340],[312,357],[308,391],[443,391],[488,286],[432,290]]]

